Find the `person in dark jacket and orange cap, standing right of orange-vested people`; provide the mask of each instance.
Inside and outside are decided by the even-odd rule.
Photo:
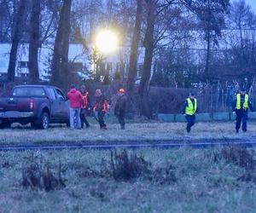
[[[125,110],[127,97],[125,95],[125,89],[119,89],[118,91],[119,98],[116,101],[116,105],[114,107],[114,115],[119,118],[119,124],[121,126],[121,130],[125,130]]]

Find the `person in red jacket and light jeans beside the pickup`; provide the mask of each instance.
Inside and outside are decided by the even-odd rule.
[[[81,128],[80,120],[80,109],[84,105],[83,96],[79,90],[75,89],[75,86],[72,84],[69,92],[67,93],[67,98],[69,100],[69,123],[70,128],[73,130],[75,128],[74,118],[76,118],[76,128]]]

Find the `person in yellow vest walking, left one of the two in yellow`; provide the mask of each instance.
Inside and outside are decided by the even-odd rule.
[[[195,114],[198,113],[197,100],[194,93],[189,94],[189,98],[184,102],[183,114],[187,120],[187,132],[189,133],[191,127],[195,124]]]

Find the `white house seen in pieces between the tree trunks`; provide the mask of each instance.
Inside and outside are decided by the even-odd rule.
[[[26,77],[28,75],[28,43],[19,45],[17,53],[17,63],[15,68],[16,77]],[[43,45],[38,50],[38,67],[39,78],[41,80],[49,80],[50,77],[50,63],[53,55],[54,44]],[[9,53],[11,49],[11,43],[0,43],[0,76],[4,75],[8,71],[9,66]],[[91,51],[91,50],[89,50]],[[93,61],[90,59],[91,53],[83,48],[82,44],[70,43],[68,60],[74,63],[83,64],[83,71],[80,72],[82,78],[88,78],[85,72],[91,72],[93,70]],[[120,64],[125,67],[125,75],[127,74],[127,68],[129,64],[130,48],[119,47],[114,53],[103,55],[102,66],[108,66],[109,75],[113,77],[114,73],[119,69]],[[138,69],[143,64],[143,49],[139,51],[138,57]]]

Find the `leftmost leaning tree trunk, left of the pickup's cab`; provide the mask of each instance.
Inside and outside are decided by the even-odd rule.
[[[15,67],[16,67],[16,57],[18,51],[18,45],[20,43],[20,32],[22,29],[24,17],[26,11],[26,0],[20,1],[19,8],[17,11],[15,23],[14,23],[14,34],[12,37],[12,47],[10,50],[9,55],[9,66],[8,66],[8,81],[14,82],[15,81]]]

